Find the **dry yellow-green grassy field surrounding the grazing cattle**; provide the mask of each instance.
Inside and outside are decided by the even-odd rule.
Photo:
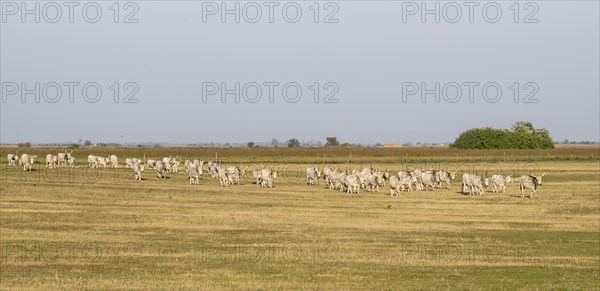
[[[20,152],[56,153],[56,148]],[[214,159],[279,170],[273,189],[245,177],[191,186],[183,171],[134,181],[129,169],[22,172],[0,148],[0,289],[599,290],[598,148],[77,149],[120,157]],[[506,153],[506,155],[504,154]],[[352,154],[352,157],[350,157]],[[323,157],[325,156],[325,157]],[[348,161],[352,164],[348,164]],[[39,159],[41,161],[41,159]],[[304,182],[335,164],[491,175],[545,172],[538,198],[451,189],[350,195]],[[491,191],[488,189],[488,191]]]

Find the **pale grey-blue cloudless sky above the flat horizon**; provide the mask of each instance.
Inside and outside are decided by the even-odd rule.
[[[0,143],[600,140],[598,1],[1,3]]]

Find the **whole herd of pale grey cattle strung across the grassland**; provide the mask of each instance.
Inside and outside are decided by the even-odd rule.
[[[46,167],[50,169],[57,166],[73,167],[75,165],[75,158],[72,153],[73,151],[65,151],[64,153],[58,153],[58,155],[46,155]],[[29,154],[22,154],[20,158],[18,155],[13,154],[8,154],[7,156],[9,165],[17,166],[18,164],[18,166],[23,167],[23,171],[31,171],[36,158],[37,155]],[[87,162],[90,168],[119,168],[119,158],[116,155],[107,157],[89,155]],[[146,169],[154,170],[158,178],[166,179],[167,173],[177,173],[179,166],[180,161],[177,157],[165,157],[160,160],[148,159],[146,162],[139,158],[127,158],[125,159],[124,168],[133,170],[135,180],[142,180],[142,173]],[[204,161],[197,159],[193,161],[186,160],[184,167],[190,185],[200,184],[203,171],[206,171],[211,178],[218,179],[221,187],[239,185],[241,178],[246,175],[245,170],[237,166],[222,168],[218,163],[209,161],[205,167]],[[441,189],[443,183],[446,184],[447,189],[450,189],[450,182],[456,178],[456,173],[456,171],[451,172],[446,170],[424,171],[415,169],[413,171],[399,171],[397,175],[390,176],[390,173],[387,171],[378,171],[371,167],[352,171],[342,171],[331,167],[324,167],[321,171],[318,168],[309,167],[306,169],[306,182],[311,186],[318,185],[321,176],[323,176],[327,188],[359,194],[360,189],[366,189],[369,192],[379,192],[379,187],[385,186],[386,181],[388,181],[390,195],[400,196],[400,192],[412,191],[413,185],[417,191],[427,191],[428,189],[433,191],[435,188]],[[521,197],[524,197],[525,189],[531,191],[529,197],[536,197],[535,192],[537,187],[542,185],[542,177],[544,175],[545,173],[541,176],[531,174],[519,177],[518,183],[521,190]],[[277,171],[273,169],[258,169],[252,171],[252,176],[257,185],[272,188],[274,180],[277,179]],[[490,183],[494,187],[492,192],[502,191],[504,193],[506,191],[506,184],[510,184],[512,181],[513,179],[510,176],[492,175],[490,178],[484,178],[480,175],[464,173],[462,176],[461,193],[483,195],[484,189]]]

